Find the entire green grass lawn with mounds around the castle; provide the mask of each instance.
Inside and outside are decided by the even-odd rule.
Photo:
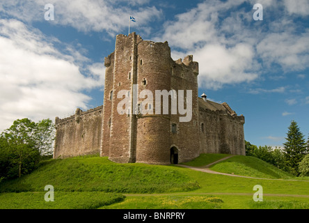
[[[201,155],[193,165],[225,156]],[[49,160],[29,176],[1,182],[0,208],[309,208],[309,180],[297,180],[252,158],[235,156],[211,168],[269,179],[174,165],[116,164],[106,157]],[[54,186],[54,202],[45,201],[45,185]],[[253,201],[254,185],[263,188],[262,202]]]

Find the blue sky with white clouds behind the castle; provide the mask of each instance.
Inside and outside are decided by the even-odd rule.
[[[308,139],[307,0],[0,1],[0,132],[102,105],[104,56],[130,15],[174,60],[193,55],[199,94],[243,114],[246,141],[283,147],[292,120]]]

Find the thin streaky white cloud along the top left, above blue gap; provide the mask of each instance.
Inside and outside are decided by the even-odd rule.
[[[0,2],[0,12],[24,22],[45,22],[46,3],[52,3],[54,6],[54,21],[48,21],[49,23],[72,26],[85,32],[107,31],[111,36],[115,36],[127,26],[129,14],[134,15],[139,26],[147,24],[150,20],[158,20],[162,15],[161,10],[155,6],[145,6],[149,3],[148,0],[13,0]]]

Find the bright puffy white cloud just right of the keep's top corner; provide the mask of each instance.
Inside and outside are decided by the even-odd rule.
[[[223,84],[250,82],[258,77],[251,72],[253,68],[253,49],[250,45],[239,43],[235,47],[205,45],[193,52],[194,60],[199,62],[201,86],[213,89]]]

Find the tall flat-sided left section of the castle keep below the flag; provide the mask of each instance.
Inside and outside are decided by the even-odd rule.
[[[121,90],[132,95],[136,82],[137,43],[139,36],[116,36],[115,52],[105,58],[104,109],[102,122],[101,155],[109,156],[115,162],[134,162],[136,144],[135,116],[119,114],[118,98]]]

